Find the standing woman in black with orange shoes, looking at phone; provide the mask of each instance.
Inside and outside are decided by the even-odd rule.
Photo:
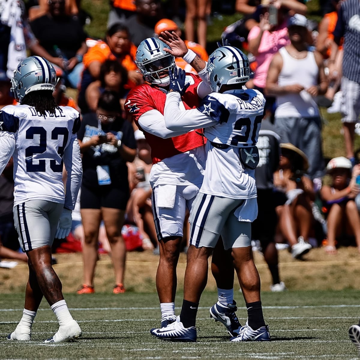
[[[93,293],[93,279],[98,259],[98,234],[103,220],[109,239],[116,286],[123,293],[126,248],[121,236],[125,208],[129,199],[126,161],[136,154],[134,131],[120,116],[118,94],[105,90],[95,113],[86,114],[78,131],[83,154],[81,184],[81,219],[84,227],[84,284],[79,294]]]

